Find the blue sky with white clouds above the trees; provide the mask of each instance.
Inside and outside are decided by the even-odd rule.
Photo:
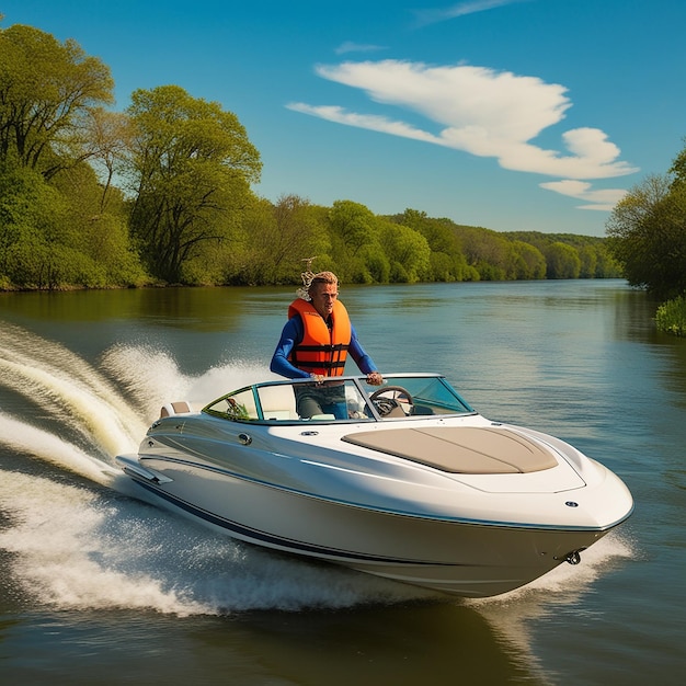
[[[683,0],[0,0],[75,38],[117,108],[174,83],[237,114],[254,190],[498,231],[604,236],[686,136]]]

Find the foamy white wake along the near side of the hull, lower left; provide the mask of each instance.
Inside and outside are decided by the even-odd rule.
[[[34,602],[57,609],[224,615],[350,607],[413,594],[243,546],[145,503],[42,477],[2,473],[0,500],[11,514],[0,548],[13,553],[14,578]]]

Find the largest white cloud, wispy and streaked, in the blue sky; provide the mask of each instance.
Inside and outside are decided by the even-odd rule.
[[[546,83],[537,77],[487,67],[430,67],[392,59],[319,66],[317,73],[361,89],[374,102],[419,113],[427,122],[420,128],[399,117],[347,112],[340,105],[290,103],[289,108],[339,124],[492,157],[512,171],[568,180],[609,179],[638,171],[619,159],[619,148],[597,128],[564,132],[563,151],[535,145],[533,141],[562,122],[572,106],[563,85]]]

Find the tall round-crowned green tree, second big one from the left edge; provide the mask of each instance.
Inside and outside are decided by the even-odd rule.
[[[150,273],[183,283],[184,264],[238,227],[260,155],[233,113],[176,85],[135,91],[128,114],[132,231]]]

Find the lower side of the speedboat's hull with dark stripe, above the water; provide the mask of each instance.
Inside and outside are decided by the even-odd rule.
[[[321,499],[193,462],[135,456],[119,461],[168,507],[233,538],[464,597],[523,586],[574,559],[573,553],[611,528],[414,516]]]

